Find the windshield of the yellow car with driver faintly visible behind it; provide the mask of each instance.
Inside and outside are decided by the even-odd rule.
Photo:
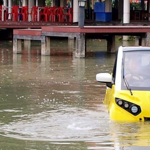
[[[150,90],[150,51],[123,53],[122,89]]]

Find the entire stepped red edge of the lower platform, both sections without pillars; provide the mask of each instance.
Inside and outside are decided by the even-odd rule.
[[[14,29],[14,35],[40,36],[43,32],[85,34],[142,34],[150,32],[150,26],[42,26],[41,29]]]

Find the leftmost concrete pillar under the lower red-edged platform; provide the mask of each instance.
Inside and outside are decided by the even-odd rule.
[[[20,39],[13,39],[13,53],[14,54],[22,53],[22,41]]]

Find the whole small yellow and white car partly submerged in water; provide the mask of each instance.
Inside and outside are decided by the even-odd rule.
[[[150,121],[150,47],[119,47],[112,74],[99,73],[96,80],[106,83],[111,120]]]

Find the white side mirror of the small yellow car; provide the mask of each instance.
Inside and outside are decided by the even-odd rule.
[[[112,88],[112,76],[109,73],[98,73],[96,81],[106,83],[108,87]]]

